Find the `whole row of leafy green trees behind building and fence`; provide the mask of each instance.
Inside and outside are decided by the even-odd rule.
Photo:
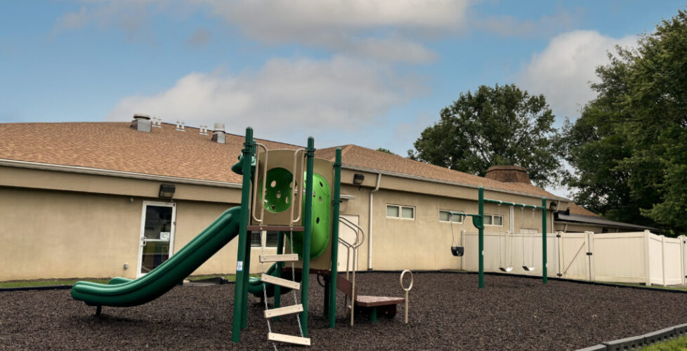
[[[687,233],[687,12],[616,51],[596,69],[596,98],[560,130],[544,95],[479,86],[441,110],[408,157],[478,176],[523,166],[610,220]]]

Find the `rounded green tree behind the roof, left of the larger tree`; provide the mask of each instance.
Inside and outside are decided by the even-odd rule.
[[[461,93],[441,119],[422,131],[408,157],[484,176],[490,166],[528,169],[539,185],[561,180],[561,143],[544,95],[514,84]]]

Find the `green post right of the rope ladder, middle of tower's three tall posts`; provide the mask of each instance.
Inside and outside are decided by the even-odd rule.
[[[303,209],[303,278],[301,279],[301,326],[303,337],[308,337],[308,285],[310,283],[310,229],[313,219],[313,161],[315,159],[315,139],[308,138],[306,149],[306,208]]]

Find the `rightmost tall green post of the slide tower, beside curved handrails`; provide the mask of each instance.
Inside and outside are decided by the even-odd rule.
[[[332,200],[332,267],[329,274],[329,328],[336,324],[336,267],[339,265],[339,205],[341,204],[341,148],[334,159],[334,200]]]

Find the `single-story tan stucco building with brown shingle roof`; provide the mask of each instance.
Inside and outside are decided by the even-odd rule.
[[[241,178],[230,168],[243,141],[223,127],[0,124],[0,281],[140,277],[240,204]],[[333,160],[335,148],[316,157]],[[483,178],[357,145],[341,149],[341,214],[365,229],[360,270],[459,268],[452,232],[475,228],[448,211],[476,213],[480,186],[490,199],[541,205],[546,197],[549,232],[645,229],[576,214],[570,200],[530,184],[524,168],[496,167]],[[488,232],[542,230],[539,212],[486,204],[485,213]],[[236,249],[230,242],[194,274],[233,273]]]

